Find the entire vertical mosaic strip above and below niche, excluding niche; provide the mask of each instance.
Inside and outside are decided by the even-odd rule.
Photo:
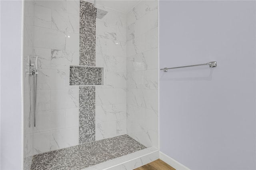
[[[94,4],[80,0],[79,65],[96,63]],[[79,87],[79,144],[95,141],[95,87]]]

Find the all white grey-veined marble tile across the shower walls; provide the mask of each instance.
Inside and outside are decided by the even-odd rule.
[[[30,156],[79,143],[79,88],[69,86],[69,65],[79,65],[80,9],[74,0],[28,2],[24,60],[34,48],[39,70],[34,129],[28,128],[24,77],[24,154]],[[142,1],[128,14],[96,7],[108,14],[96,19],[96,67],[104,67],[104,86],[95,88],[95,140],[128,134],[157,148],[158,2]]]

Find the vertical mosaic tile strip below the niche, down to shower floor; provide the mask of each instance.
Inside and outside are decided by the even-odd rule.
[[[79,144],[95,141],[95,86],[79,87]]]

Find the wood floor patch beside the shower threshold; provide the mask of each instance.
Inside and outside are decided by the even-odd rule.
[[[166,164],[164,161],[158,159],[146,165],[140,166],[134,170],[175,170],[172,166]]]

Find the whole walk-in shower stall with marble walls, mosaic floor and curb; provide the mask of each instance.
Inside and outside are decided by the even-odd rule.
[[[24,1],[24,169],[158,159],[158,0]]]

